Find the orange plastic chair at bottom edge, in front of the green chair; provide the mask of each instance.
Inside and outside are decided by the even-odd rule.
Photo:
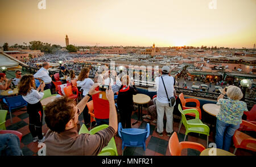
[[[172,156],[181,156],[181,151],[185,148],[197,149],[202,152],[205,147],[195,142],[179,142],[176,132],[174,132],[169,140],[169,150]]]

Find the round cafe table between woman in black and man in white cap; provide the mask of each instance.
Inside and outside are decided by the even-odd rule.
[[[138,119],[142,120],[142,106],[143,104],[148,104],[150,102],[150,97],[141,93],[138,93],[137,95],[133,95],[133,102],[135,104],[138,104]],[[138,120],[133,123],[138,123]]]

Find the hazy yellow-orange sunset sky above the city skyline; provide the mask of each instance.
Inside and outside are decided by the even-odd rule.
[[[0,0],[0,45],[253,48],[256,0]]]

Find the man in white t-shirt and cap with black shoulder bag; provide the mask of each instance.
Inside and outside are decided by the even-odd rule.
[[[169,106],[168,98],[174,97],[174,85],[175,78],[173,76],[169,76],[170,67],[163,66],[162,67],[162,77],[164,81],[164,85],[166,86],[166,90],[164,89],[163,81],[161,76],[155,79],[157,97],[156,97],[156,110],[158,113],[158,122],[157,122],[157,134],[159,136],[163,136],[163,117],[164,112],[166,113],[166,132],[167,136],[171,136],[171,132],[173,131],[173,112],[174,106]],[[168,98],[166,95],[166,91],[168,94]]]

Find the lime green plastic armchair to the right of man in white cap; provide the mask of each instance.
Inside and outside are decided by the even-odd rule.
[[[188,135],[189,132],[195,132],[198,134],[204,134],[207,135],[207,147],[208,147],[208,136],[209,136],[209,132],[210,129],[207,125],[205,125],[200,119],[199,119],[199,112],[196,109],[185,109],[182,110],[181,106],[179,104],[178,109],[181,113],[181,119],[182,119],[182,123],[185,126],[186,132],[185,132],[185,138],[184,141]],[[185,117],[185,114],[188,113],[195,113],[196,114],[196,118],[195,119],[189,119],[187,120]],[[180,131],[180,130],[179,130]],[[179,133],[178,131],[178,133]]]

